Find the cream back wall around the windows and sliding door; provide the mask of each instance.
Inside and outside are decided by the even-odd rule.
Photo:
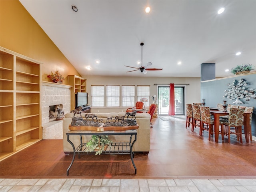
[[[150,85],[151,96],[157,95],[157,86],[154,84],[189,84],[186,86],[185,103],[200,102],[200,77],[109,77],[84,76],[86,78],[86,91],[88,104],[91,99],[91,85]],[[152,100],[150,100],[152,103]],[[91,112],[122,112],[125,108],[91,108]]]

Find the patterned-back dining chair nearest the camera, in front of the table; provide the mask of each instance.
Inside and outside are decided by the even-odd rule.
[[[244,124],[244,109],[242,108],[230,108],[230,112],[228,115],[228,120],[221,120],[220,119],[220,125],[221,129],[224,129],[224,126],[227,126],[227,130],[224,130],[224,133],[222,133],[222,136],[224,134],[228,135],[228,143],[230,143],[230,134],[235,134],[237,137],[237,140],[240,140],[240,143],[243,143],[242,141],[242,125]],[[234,131],[231,129],[231,127],[234,128]]]

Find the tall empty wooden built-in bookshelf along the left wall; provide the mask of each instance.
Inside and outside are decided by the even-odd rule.
[[[0,47],[0,160],[42,140],[41,64]]]

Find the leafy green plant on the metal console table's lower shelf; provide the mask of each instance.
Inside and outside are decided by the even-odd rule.
[[[95,155],[100,155],[108,146],[111,148],[112,141],[108,139],[108,135],[93,135],[86,143],[86,152],[96,151]]]

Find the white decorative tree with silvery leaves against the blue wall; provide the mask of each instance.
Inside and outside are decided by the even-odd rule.
[[[245,86],[247,83],[244,79],[240,79],[239,81],[233,80],[232,84],[227,84],[228,90],[225,90],[225,94],[223,98],[228,98],[229,100],[235,100],[233,104],[244,104],[239,99],[244,99],[246,101],[250,101],[251,98],[256,99],[256,89],[246,90]]]

